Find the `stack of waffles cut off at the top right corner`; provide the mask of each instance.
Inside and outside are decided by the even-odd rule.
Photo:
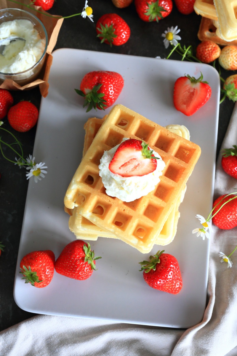
[[[200,41],[211,40],[222,46],[237,45],[235,0],[196,0],[194,10],[202,16],[198,31]]]

